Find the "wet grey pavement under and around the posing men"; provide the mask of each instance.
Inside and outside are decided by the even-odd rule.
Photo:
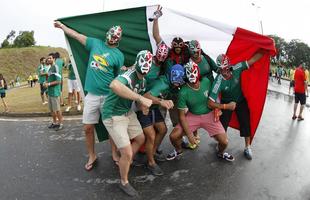
[[[310,110],[305,109],[304,121],[293,121],[293,101],[268,92],[252,161],[243,157],[237,131],[228,130],[228,151],[236,158],[229,163],[215,156],[215,141],[200,130],[198,149],[159,163],[164,176],[131,168],[132,185],[141,199],[309,200]],[[47,125],[47,118],[0,119],[1,200],[128,199],[117,187],[118,168],[107,142],[96,145],[99,165],[86,172],[81,120],[66,121],[59,132]],[[172,150],[168,137],[162,149]]]

